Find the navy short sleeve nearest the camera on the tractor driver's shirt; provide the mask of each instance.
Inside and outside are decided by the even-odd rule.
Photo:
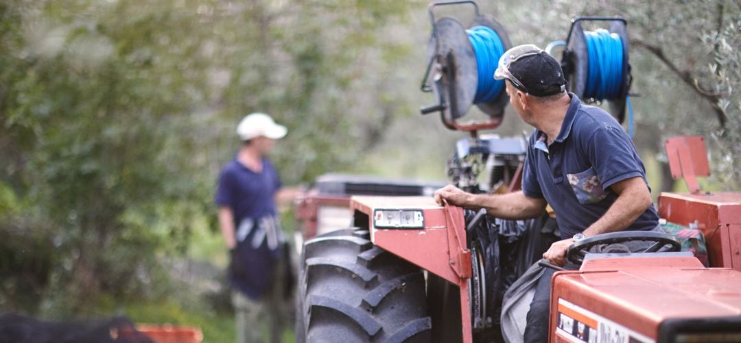
[[[602,126],[597,129],[588,143],[587,154],[605,191],[631,177],[645,179],[636,147],[622,128]]]

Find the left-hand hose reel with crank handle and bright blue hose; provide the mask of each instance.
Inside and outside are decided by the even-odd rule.
[[[468,30],[455,18],[435,18],[434,7],[471,4],[475,11]],[[448,129],[494,129],[502,122],[509,98],[502,81],[494,80],[496,64],[512,44],[502,24],[479,13],[474,1],[443,1],[428,7],[432,36],[429,63],[420,88],[433,92],[437,104],[420,109],[423,115],[440,112]],[[475,104],[487,115],[483,123],[459,123]]]

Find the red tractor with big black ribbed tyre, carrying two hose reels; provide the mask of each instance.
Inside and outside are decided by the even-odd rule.
[[[470,29],[454,18],[435,17],[436,7],[451,4],[473,6]],[[478,134],[499,126],[508,99],[505,92],[477,94],[476,65],[483,57],[471,32],[496,33],[502,51],[511,47],[507,33],[494,18],[479,14],[473,1],[435,3],[429,12],[433,35],[422,89],[439,103],[422,113],[440,112],[445,126],[471,134],[457,144],[448,175],[468,191],[519,189],[525,140]],[[608,99],[611,114],[622,122],[630,85],[622,19],[572,22],[560,44],[571,92],[583,97],[587,91],[589,47],[582,24],[588,21],[608,22],[609,31],[622,38],[625,73],[617,79],[617,96]],[[487,119],[463,123],[473,104]],[[678,252],[679,240],[668,234],[626,231],[581,240],[568,252],[581,268],[553,276],[551,342],[741,342],[741,193],[697,187],[694,177],[709,174],[701,137],[668,140],[667,149],[674,177],[684,177],[691,192],[662,193],[659,214],[702,232],[710,268],[692,252]],[[487,181],[480,185],[484,169]],[[522,339],[502,335],[502,325],[517,329],[522,322],[511,315],[505,292],[558,240],[551,215],[515,222],[438,206],[431,189],[439,185],[408,181],[334,176],[318,185],[299,208],[306,242],[297,290],[298,342]],[[348,228],[332,224],[343,221]],[[648,251],[670,252],[588,252],[625,240],[655,241]]]

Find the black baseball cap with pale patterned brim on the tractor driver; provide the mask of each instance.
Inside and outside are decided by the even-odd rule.
[[[537,97],[566,90],[561,64],[548,52],[533,44],[519,45],[507,50],[499,58],[494,78],[506,78],[516,89]]]

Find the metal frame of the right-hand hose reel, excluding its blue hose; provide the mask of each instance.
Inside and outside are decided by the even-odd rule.
[[[617,119],[619,123],[625,120],[625,97],[631,88],[633,78],[631,76],[631,64],[628,62],[628,29],[627,21],[620,17],[600,17],[600,16],[576,16],[571,18],[571,29],[565,42],[554,42],[548,44],[547,50],[552,50],[558,45],[565,45],[561,59],[561,67],[568,81],[570,92],[585,101],[594,102],[594,99],[587,99],[584,96],[587,84],[589,55],[587,51],[587,42],[584,37],[584,28],[582,21],[612,21],[608,31],[617,33],[622,40],[622,81],[620,81],[620,91],[617,99],[608,100],[608,109],[610,114]],[[548,51],[551,53],[551,51]]]

